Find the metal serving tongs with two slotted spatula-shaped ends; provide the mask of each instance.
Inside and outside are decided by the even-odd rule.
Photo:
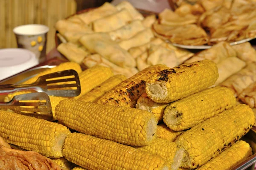
[[[10,109],[15,113],[52,121],[52,106],[48,95],[78,96],[81,86],[75,70],[47,74],[29,85],[0,85],[0,95],[22,90],[38,92],[16,95],[9,102],[0,102],[0,109]]]

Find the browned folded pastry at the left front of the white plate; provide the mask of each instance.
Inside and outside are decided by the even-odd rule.
[[[155,35],[160,35],[165,39],[169,39],[172,43],[183,45],[204,45],[208,42],[206,32],[194,24],[187,24],[185,26],[166,26],[154,23],[153,29]]]

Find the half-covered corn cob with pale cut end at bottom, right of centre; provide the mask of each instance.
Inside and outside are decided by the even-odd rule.
[[[171,165],[171,170],[177,170],[180,167],[182,159],[175,158],[175,153],[180,152],[180,148],[175,142],[157,138],[148,145],[135,148],[161,156]]]

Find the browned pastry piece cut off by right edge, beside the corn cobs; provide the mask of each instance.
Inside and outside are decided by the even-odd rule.
[[[253,82],[245,88],[241,94],[239,94],[239,99],[251,108],[256,108],[256,82]]]

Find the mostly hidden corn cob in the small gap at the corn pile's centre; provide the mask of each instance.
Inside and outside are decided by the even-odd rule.
[[[183,133],[183,131],[174,131],[169,127],[167,127],[166,124],[164,123],[157,125],[156,135],[158,138],[162,138],[162,139],[166,139],[168,141],[174,142],[175,139],[181,135],[181,133]]]

